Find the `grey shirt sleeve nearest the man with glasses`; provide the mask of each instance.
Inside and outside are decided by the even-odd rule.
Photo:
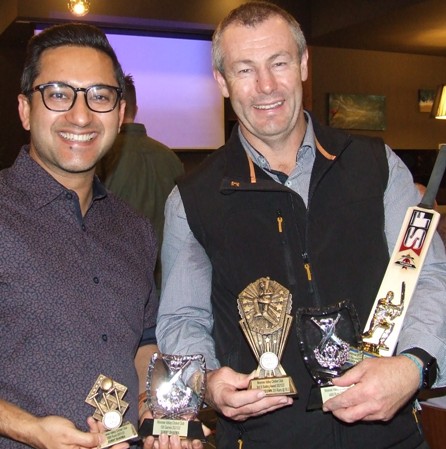
[[[190,230],[177,187],[166,201],[161,260],[156,326],[161,352],[203,354],[207,369],[219,368],[212,337],[211,263]]]

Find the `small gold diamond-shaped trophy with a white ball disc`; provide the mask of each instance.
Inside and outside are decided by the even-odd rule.
[[[95,408],[93,418],[102,421],[107,429],[106,440],[101,444],[101,448],[138,438],[138,433],[130,422],[122,425],[122,417],[129,406],[123,400],[126,392],[127,387],[100,374],[85,399],[87,404]]]

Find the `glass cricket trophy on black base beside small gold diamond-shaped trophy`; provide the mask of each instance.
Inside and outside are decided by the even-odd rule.
[[[206,389],[203,355],[155,353],[150,360],[146,385],[153,419],[144,420],[140,437],[165,433],[206,441],[201,423],[194,421]]]

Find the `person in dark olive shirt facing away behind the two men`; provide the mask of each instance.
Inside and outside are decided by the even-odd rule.
[[[138,113],[135,83],[131,75],[124,80],[124,121],[97,173],[107,189],[150,220],[161,247],[164,205],[175,180],[184,173],[183,164],[170,148],[149,137],[142,123],[135,123]],[[159,261],[155,280],[160,287]]]

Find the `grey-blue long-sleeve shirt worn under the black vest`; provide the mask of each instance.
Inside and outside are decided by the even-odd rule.
[[[311,170],[316,148],[311,118],[296,167],[285,185],[296,191],[307,205]],[[242,144],[254,163],[271,173],[268,162],[239,132]],[[384,195],[385,234],[391,253],[398,238],[406,210],[420,201],[420,193],[404,163],[386,146],[389,182]],[[163,283],[157,322],[160,350],[169,354],[202,353],[208,369],[220,366],[212,338],[211,263],[189,228],[177,187],[165,209],[162,247]],[[437,358],[439,371],[435,386],[446,385],[446,254],[436,233],[429,249],[418,286],[400,334],[398,352],[420,347]]]

